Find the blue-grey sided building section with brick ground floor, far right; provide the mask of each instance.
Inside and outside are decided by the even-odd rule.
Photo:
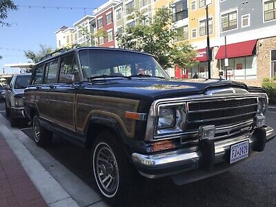
[[[261,86],[264,77],[275,77],[276,0],[225,0],[219,8],[219,51],[215,58],[222,70],[227,69],[228,79]]]

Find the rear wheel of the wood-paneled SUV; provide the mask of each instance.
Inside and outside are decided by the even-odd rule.
[[[34,141],[37,146],[46,147],[51,144],[52,132],[41,126],[39,122],[39,115],[34,115],[34,119],[32,121],[32,129],[34,132]]]

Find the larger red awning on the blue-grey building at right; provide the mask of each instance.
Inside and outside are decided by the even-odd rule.
[[[257,43],[257,39],[250,41],[242,41],[226,46],[227,58],[244,57],[253,55],[253,50]],[[225,46],[220,46],[215,59],[225,59]]]

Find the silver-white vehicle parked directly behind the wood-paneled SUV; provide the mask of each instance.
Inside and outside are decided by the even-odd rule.
[[[10,117],[10,125],[16,126],[18,119],[23,119],[23,94],[30,83],[30,73],[14,75],[5,93],[6,117]]]

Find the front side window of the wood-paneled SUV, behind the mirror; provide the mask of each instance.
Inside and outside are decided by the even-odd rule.
[[[79,69],[75,55],[61,58],[59,83],[73,83],[79,81]]]

